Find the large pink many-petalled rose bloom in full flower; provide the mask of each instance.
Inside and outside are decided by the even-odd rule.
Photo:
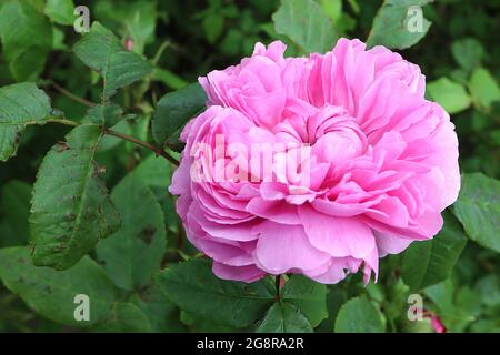
[[[383,47],[284,50],[258,43],[199,79],[208,109],[170,186],[187,235],[226,280],[377,280],[379,257],[436,235],[457,199],[454,125],[419,67]]]

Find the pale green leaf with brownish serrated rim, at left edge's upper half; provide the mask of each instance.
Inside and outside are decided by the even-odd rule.
[[[0,160],[16,155],[24,126],[43,123],[50,111],[49,97],[33,83],[0,88]]]

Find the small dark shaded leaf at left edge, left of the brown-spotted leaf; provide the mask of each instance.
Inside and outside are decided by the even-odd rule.
[[[1,209],[19,244],[26,244],[29,235],[31,185],[12,180],[3,185]]]

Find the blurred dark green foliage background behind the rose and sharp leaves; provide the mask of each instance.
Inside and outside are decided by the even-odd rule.
[[[98,102],[100,88],[97,75],[70,51],[71,44],[80,38],[68,26],[73,19],[71,11],[66,11],[58,1],[26,2],[46,17],[41,26],[44,31],[28,32],[27,36],[37,37],[36,41],[26,48],[27,53],[18,53],[28,55],[23,64],[12,68],[9,55],[14,54],[12,49],[7,50],[4,39],[9,31],[22,30],[24,24],[17,23],[14,29],[4,21],[0,23],[3,43],[0,47],[0,87],[36,80],[48,92],[53,106],[64,111],[71,120],[79,121],[87,106],[73,97]],[[149,118],[156,102],[166,92],[194,82],[199,75],[213,69],[237,63],[251,54],[257,41],[269,43],[284,39],[276,33],[272,23],[279,0],[80,2],[90,9],[92,21],[98,20],[113,30],[126,45],[156,63],[157,69],[146,92],[136,85],[133,90],[121,91],[117,99],[128,112],[146,118],[121,121],[117,129],[144,140],[150,134]],[[318,2],[332,19],[339,37],[363,41],[382,4],[382,1],[371,0]],[[3,3],[4,0],[0,8]],[[76,1],[74,4],[80,3]],[[401,53],[420,65],[429,83],[428,95],[452,114],[460,141],[461,170],[500,179],[500,1],[441,0],[427,6],[424,16],[432,22],[429,32],[418,44]],[[18,45],[22,47],[22,43]],[[300,54],[300,49],[291,44],[288,53]],[[38,166],[50,146],[61,141],[68,131],[68,128],[56,124],[29,126],[17,156],[0,164],[0,247],[27,244],[29,201]],[[97,160],[106,165],[107,185],[112,190],[127,171],[133,170],[146,158],[144,151],[106,138]],[[169,173],[168,169],[161,173],[164,171]],[[181,232],[172,201],[164,196],[167,185],[168,179],[160,179],[156,195],[164,207],[169,241],[176,243]],[[500,230],[498,233],[500,235]],[[184,252],[193,253],[189,247]],[[359,278],[352,276],[330,287],[330,316],[318,329],[330,332],[339,305],[362,293],[384,312],[389,331],[432,332],[430,322],[414,324],[406,318],[410,291],[399,276],[402,257],[404,255],[396,255],[382,261],[378,284],[371,283],[364,288]],[[500,332],[499,270],[498,253],[469,241],[450,278],[424,288],[426,308],[438,315],[452,332]],[[192,322],[188,315],[183,315],[181,321],[176,329],[221,329],[203,322]],[[37,315],[18,296],[0,286],[0,332],[6,331],[70,332],[72,328]]]

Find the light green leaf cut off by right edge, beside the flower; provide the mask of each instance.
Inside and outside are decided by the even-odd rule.
[[[452,211],[472,241],[500,252],[500,181],[481,173],[462,174]]]

